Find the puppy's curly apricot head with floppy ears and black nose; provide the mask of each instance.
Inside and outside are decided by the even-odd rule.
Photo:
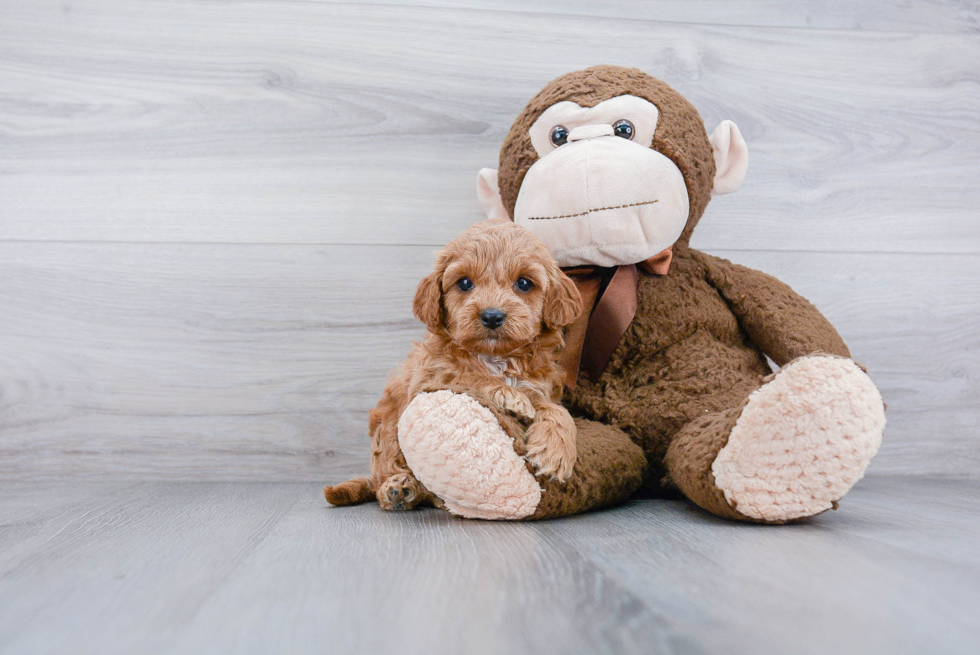
[[[465,350],[508,355],[542,328],[568,325],[582,310],[571,280],[547,247],[510,221],[483,221],[439,253],[420,284],[415,315]]]

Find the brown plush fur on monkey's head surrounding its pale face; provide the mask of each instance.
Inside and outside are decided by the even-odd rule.
[[[562,75],[531,98],[511,126],[500,150],[498,183],[508,214],[514,215],[524,175],[538,159],[528,130],[544,110],[563,100],[582,107],[594,107],[603,100],[621,95],[649,100],[660,111],[652,147],[670,158],[684,174],[691,209],[678,243],[686,244],[690,240],[694,226],[711,199],[711,184],[715,177],[715,160],[704,131],[704,121],[684,96],[636,68],[593,66]]]

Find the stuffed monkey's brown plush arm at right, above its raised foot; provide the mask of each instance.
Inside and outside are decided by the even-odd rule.
[[[696,253],[752,341],[779,366],[803,355],[850,357],[837,330],[805,298],[771,275]]]

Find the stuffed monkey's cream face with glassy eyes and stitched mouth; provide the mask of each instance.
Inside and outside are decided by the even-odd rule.
[[[689,201],[680,169],[650,147],[659,115],[631,95],[548,107],[529,130],[538,161],[521,184],[514,222],[562,266],[632,264],[671,246]]]

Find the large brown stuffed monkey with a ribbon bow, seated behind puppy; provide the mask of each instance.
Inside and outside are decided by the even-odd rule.
[[[881,443],[884,405],[813,305],[690,247],[711,195],[736,190],[747,166],[730,121],[709,137],[665,83],[596,66],[531,99],[499,171],[480,171],[477,192],[489,217],[538,235],[586,300],[561,353],[580,452],[632,442],[645,491],[679,490],[719,516],[785,523],[836,508]],[[481,472],[445,438],[478,425],[504,452],[516,442],[506,423],[465,394],[438,392],[409,405],[399,441],[419,480],[461,516],[568,514],[602,504],[589,502],[591,488],[615,487],[610,502],[637,486],[635,475],[624,482],[615,467],[596,469],[601,457],[585,457],[576,475],[588,483],[577,493],[549,488],[527,479],[519,453],[513,475],[481,486]],[[449,450],[438,466],[416,470],[413,460],[431,462],[440,447]],[[522,484],[507,483],[522,473]],[[542,498],[551,505],[540,509]]]

